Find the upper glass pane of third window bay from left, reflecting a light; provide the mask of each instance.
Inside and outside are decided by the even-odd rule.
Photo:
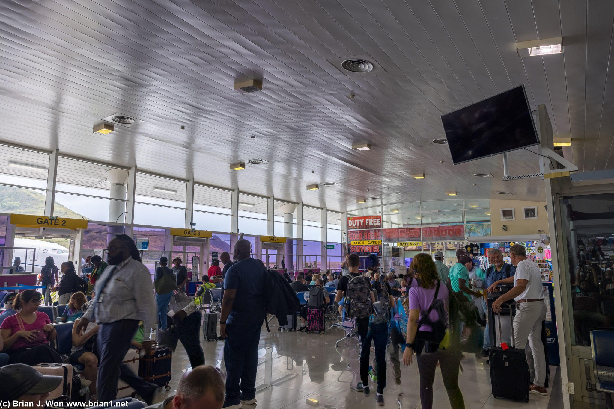
[[[136,172],[136,201],[185,208],[187,183]]]

